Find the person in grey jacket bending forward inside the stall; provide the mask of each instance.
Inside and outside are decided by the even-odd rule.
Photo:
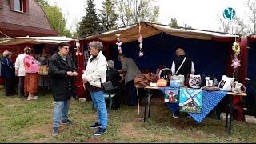
[[[134,86],[134,78],[138,74],[142,74],[141,71],[138,69],[138,66],[134,62],[133,59],[127,58],[124,54],[120,54],[118,59],[122,63],[122,69],[118,70],[119,73],[125,73],[125,85],[126,90],[128,90],[129,95],[129,106],[136,106],[137,105],[137,98],[136,98],[136,87]]]

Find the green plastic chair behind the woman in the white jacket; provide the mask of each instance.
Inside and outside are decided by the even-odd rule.
[[[120,86],[116,86],[116,87],[114,87],[114,88],[111,89],[111,90],[107,90],[107,91],[104,91],[104,92],[103,92],[105,101],[106,101],[106,100],[109,100],[109,110],[110,110],[110,111],[111,111],[111,107],[112,107],[112,104],[113,104],[113,98],[114,98],[114,96],[116,96],[117,94],[119,94],[119,87],[120,87]],[[114,94],[112,94],[113,91],[114,91]],[[94,110],[94,102],[93,102],[92,110]]]

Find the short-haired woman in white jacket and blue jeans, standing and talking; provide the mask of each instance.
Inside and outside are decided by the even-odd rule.
[[[102,54],[102,42],[89,43],[90,58],[86,66],[86,71],[82,74],[82,82],[86,90],[90,92],[94,106],[98,111],[98,122],[90,126],[99,128],[94,135],[101,135],[107,127],[106,103],[103,96],[101,83],[106,82],[106,58]]]

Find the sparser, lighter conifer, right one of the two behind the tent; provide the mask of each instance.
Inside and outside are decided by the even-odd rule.
[[[99,11],[99,16],[102,21],[102,30],[114,29],[116,27],[115,22],[118,19],[118,15],[115,14],[113,0],[105,0],[102,2],[102,10]]]

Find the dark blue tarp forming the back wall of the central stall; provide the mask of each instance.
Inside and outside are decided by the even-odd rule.
[[[143,57],[138,56],[138,46],[138,41],[123,43],[122,54],[133,58],[141,70],[151,70],[155,73],[159,66],[170,68],[176,58],[175,50],[180,46],[186,50],[186,55],[193,59],[197,74],[213,73],[218,79],[226,74],[228,51],[231,49],[231,43],[181,38],[165,33],[143,39]],[[115,67],[121,68],[118,62],[118,46],[112,45],[110,49]]]

